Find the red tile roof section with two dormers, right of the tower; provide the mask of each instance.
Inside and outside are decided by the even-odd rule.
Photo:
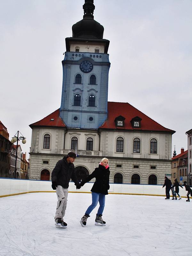
[[[124,116],[124,127],[116,127],[115,118],[117,116]],[[132,118],[139,116],[142,118],[141,127],[132,127]],[[126,102],[108,102],[108,118],[103,125],[100,126],[102,129],[116,129],[116,130],[140,130],[140,131],[158,131],[158,132],[171,132],[175,131],[165,128],[161,124],[150,117],[143,114],[137,108],[134,108],[131,104]]]

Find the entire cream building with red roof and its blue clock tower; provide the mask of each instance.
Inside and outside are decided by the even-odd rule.
[[[83,20],[66,38],[60,108],[30,124],[29,178],[50,180],[57,161],[74,151],[79,180],[107,157],[110,182],[162,184],[171,174],[175,131],[129,103],[108,102],[109,40],[94,8],[93,0],[85,0]]]

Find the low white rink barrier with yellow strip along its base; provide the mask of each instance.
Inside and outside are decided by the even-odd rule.
[[[28,193],[54,193],[51,181],[46,180],[21,180],[0,178],[0,197],[16,196]],[[80,190],[76,189],[74,182],[69,182],[69,193],[91,193],[93,183],[85,183]],[[139,192],[139,193],[138,193]],[[171,191],[170,191],[171,192]],[[136,195],[136,196],[165,196],[165,188],[162,185],[146,184],[117,184],[110,183],[109,194],[116,195]],[[180,196],[187,198],[185,188],[180,188]],[[170,198],[172,193],[170,193]]]

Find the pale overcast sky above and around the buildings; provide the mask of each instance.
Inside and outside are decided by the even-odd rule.
[[[11,138],[60,108],[65,38],[84,0],[0,0],[0,120]],[[128,102],[175,130],[177,154],[192,128],[192,1],[95,0],[110,40],[108,101]],[[174,147],[172,147],[174,148]],[[173,151],[173,149],[172,149]],[[29,155],[28,155],[29,156]]]

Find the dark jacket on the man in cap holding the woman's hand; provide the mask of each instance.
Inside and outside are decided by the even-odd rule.
[[[70,179],[74,181],[75,185],[79,184],[75,175],[74,164],[68,164],[67,157],[63,157],[55,165],[51,174],[51,181],[57,182],[57,186],[60,185],[63,188],[68,188]]]

